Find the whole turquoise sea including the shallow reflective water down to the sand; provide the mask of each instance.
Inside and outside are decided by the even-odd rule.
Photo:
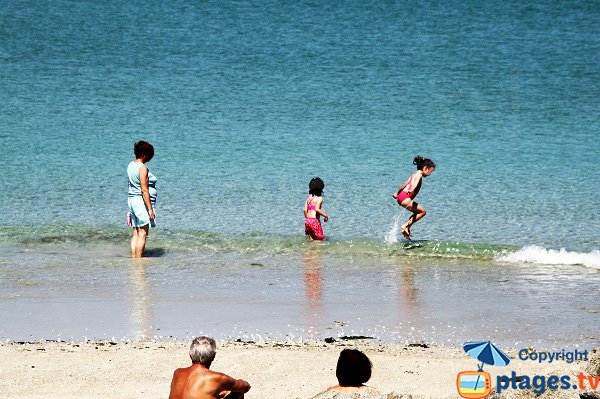
[[[596,1],[4,2],[0,337],[597,346],[599,65]]]

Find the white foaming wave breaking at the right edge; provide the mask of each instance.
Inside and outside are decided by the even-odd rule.
[[[565,249],[546,249],[536,245],[496,257],[497,261],[510,263],[537,263],[543,265],[583,265],[600,269],[600,252],[572,252]]]

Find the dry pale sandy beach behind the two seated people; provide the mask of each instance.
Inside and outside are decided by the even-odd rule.
[[[311,398],[336,383],[335,365],[344,347],[361,349],[369,356],[374,368],[368,385],[384,393],[455,398],[456,374],[476,370],[476,362],[454,347],[235,341],[218,343],[211,368],[249,381],[252,389],[246,397],[250,399]],[[187,349],[183,341],[4,343],[0,345],[0,397],[166,398],[173,371],[189,365]],[[508,367],[487,367],[492,381],[494,373],[512,370],[533,376],[577,375],[589,369],[589,362],[539,364],[519,360],[516,351],[508,354],[513,358]],[[576,390],[561,394],[578,397]]]

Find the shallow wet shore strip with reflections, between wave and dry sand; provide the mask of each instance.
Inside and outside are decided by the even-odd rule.
[[[0,340],[365,335],[546,350],[598,342],[598,301],[572,295],[594,292],[595,269],[413,256],[415,248],[376,257],[328,252],[337,246],[173,251],[140,261],[112,245],[14,247],[0,259]]]

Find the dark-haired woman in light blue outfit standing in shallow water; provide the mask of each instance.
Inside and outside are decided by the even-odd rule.
[[[154,147],[145,141],[138,141],[133,146],[135,160],[127,166],[129,177],[129,206],[130,221],[133,227],[131,239],[131,257],[144,256],[146,238],[150,226],[155,227],[154,204],[156,203],[156,177],[145,165],[154,157]]]

